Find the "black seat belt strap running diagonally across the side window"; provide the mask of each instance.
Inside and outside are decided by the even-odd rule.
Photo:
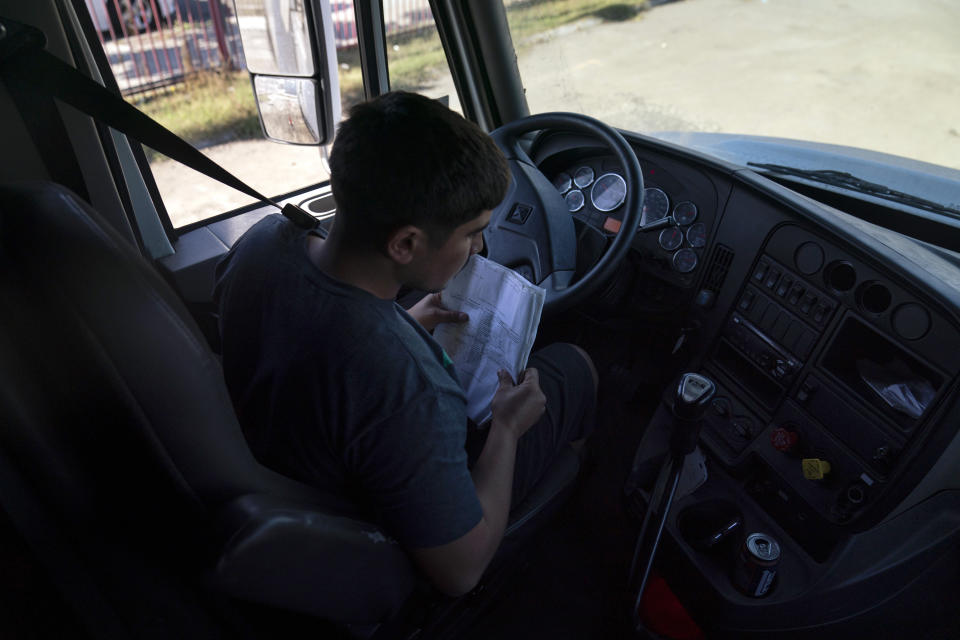
[[[0,47],[0,75],[18,89],[54,96],[90,117],[134,138],[171,160],[271,204],[301,227],[316,218],[294,204],[280,206],[203,155],[175,133],[43,49],[46,38],[33,27],[3,19],[7,28]]]

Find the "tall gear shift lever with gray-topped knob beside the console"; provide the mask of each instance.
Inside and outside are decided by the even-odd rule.
[[[643,597],[644,589],[646,589],[654,556],[657,553],[657,547],[660,545],[660,537],[663,535],[663,526],[667,522],[670,506],[673,504],[673,496],[677,491],[677,484],[683,471],[683,461],[688,454],[697,448],[697,439],[700,437],[700,428],[703,426],[703,414],[710,405],[716,390],[716,385],[709,378],[699,373],[685,373],[680,377],[680,383],[674,393],[670,451],[660,468],[653,493],[651,493],[650,500],[647,502],[647,512],[643,517],[643,524],[640,526],[640,535],[637,536],[637,545],[630,566],[630,584],[632,586],[638,575],[637,564],[641,558],[644,559],[643,569],[639,572],[640,583],[637,587],[637,598],[633,605],[634,626],[638,631],[642,628],[639,615],[640,599]],[[657,526],[654,529],[651,541],[648,543],[647,538],[650,537],[648,530],[657,518],[659,518]]]

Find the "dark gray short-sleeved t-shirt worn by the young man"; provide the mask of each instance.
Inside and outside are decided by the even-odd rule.
[[[451,542],[482,509],[449,358],[392,300],[320,271],[307,238],[268,216],[217,267],[224,373],[250,447],[406,547]]]

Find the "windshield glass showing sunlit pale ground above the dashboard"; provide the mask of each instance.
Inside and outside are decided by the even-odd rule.
[[[507,13],[531,113],[960,169],[956,0],[554,0],[508,2]]]

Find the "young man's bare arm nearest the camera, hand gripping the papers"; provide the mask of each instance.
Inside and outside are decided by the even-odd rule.
[[[477,498],[483,507],[480,522],[466,534],[439,547],[414,549],[420,569],[440,591],[460,596],[473,589],[500,546],[510,514],[517,441],[543,414],[546,397],[536,369],[527,369],[514,384],[499,372],[493,398],[490,434],[473,468]]]

